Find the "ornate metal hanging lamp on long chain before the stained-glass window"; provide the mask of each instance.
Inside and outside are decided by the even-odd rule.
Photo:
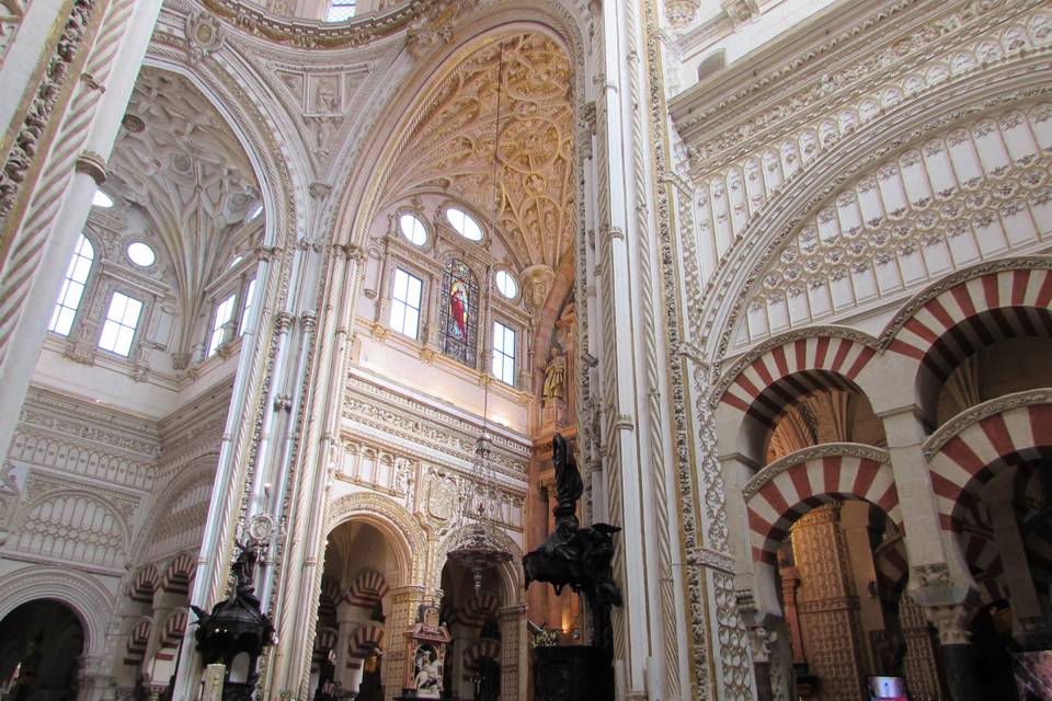
[[[496,125],[493,139],[493,226],[500,214],[500,182],[498,180],[498,146],[501,139],[501,95],[504,89],[504,44],[500,44],[500,65],[496,80]],[[485,318],[490,317],[492,285],[487,271]],[[492,353],[492,350],[491,350]],[[454,538],[447,556],[471,573],[476,594],[482,588],[482,575],[512,560],[496,538],[500,522],[500,490],[490,462],[493,438],[489,433],[489,402],[491,378],[482,377],[482,430],[474,446],[471,479],[461,482]]]

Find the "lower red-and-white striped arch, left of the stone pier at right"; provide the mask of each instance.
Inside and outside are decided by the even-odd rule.
[[[800,462],[793,462],[793,455],[789,455],[773,463],[787,464],[778,467],[775,474],[745,498],[753,558],[757,562],[774,565],[778,545],[789,533],[789,527],[822,504],[851,498],[870,502],[882,508],[902,530],[899,492],[890,464],[850,455],[810,459],[801,456]],[[756,476],[763,474],[762,471]]]

